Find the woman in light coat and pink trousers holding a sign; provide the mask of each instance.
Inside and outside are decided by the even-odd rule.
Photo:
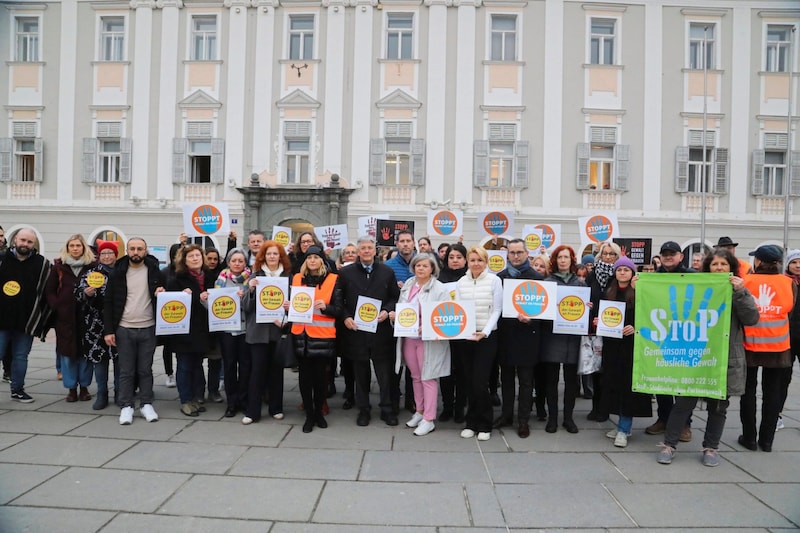
[[[397,303],[417,304],[417,316],[421,316],[422,302],[445,302],[450,300],[450,291],[436,278],[439,262],[431,253],[419,253],[409,264],[414,276],[406,280],[400,289]],[[395,312],[389,319],[395,321]],[[414,385],[416,412],[406,426],[414,428],[414,435],[427,435],[434,429],[436,408],[439,402],[437,379],[450,375],[450,344],[442,341],[423,341],[419,337],[404,337],[397,342],[395,371],[400,371],[400,360],[406,362]]]

